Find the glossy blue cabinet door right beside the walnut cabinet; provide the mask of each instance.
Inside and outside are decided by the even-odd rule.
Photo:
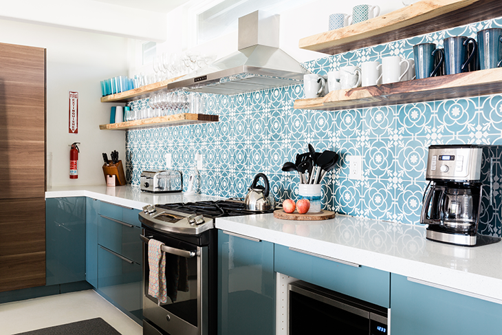
[[[45,200],[46,285],[85,280],[85,197]]]

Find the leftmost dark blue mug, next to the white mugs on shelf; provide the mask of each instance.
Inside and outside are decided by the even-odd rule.
[[[439,52],[439,62],[435,65],[435,56]],[[434,43],[422,43],[413,45],[415,58],[415,76],[417,79],[435,76],[444,62],[444,50],[436,49]]]

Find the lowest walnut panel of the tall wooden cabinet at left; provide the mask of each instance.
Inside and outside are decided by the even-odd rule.
[[[45,285],[45,251],[0,256],[0,292]]]

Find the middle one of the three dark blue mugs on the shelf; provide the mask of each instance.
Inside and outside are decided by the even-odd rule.
[[[468,64],[474,61],[477,52],[475,39],[466,36],[454,36],[444,39],[444,63],[446,74],[459,74],[466,72]],[[472,51],[468,54],[468,44],[472,43]]]

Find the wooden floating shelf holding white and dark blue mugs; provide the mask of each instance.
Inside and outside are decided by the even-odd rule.
[[[340,110],[502,93],[502,67],[401,83],[340,89],[314,99],[296,100],[295,109]]]

